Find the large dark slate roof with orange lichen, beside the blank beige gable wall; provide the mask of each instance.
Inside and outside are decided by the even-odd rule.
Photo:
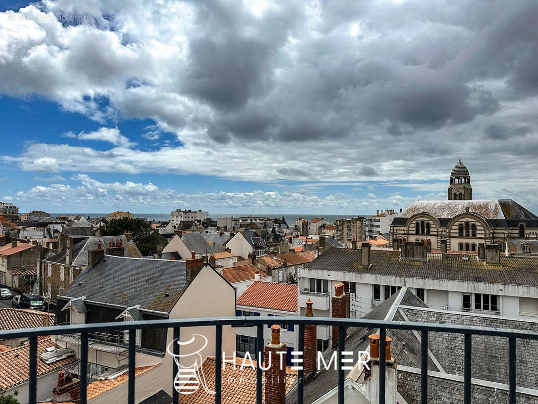
[[[141,309],[169,312],[188,287],[185,261],[105,258],[83,270],[59,297],[86,296],[125,308],[140,305]]]

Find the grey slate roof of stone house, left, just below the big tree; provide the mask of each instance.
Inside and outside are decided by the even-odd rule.
[[[88,265],[88,251],[97,249],[98,242],[101,240],[101,247],[107,248],[109,245],[109,241],[116,242],[116,239],[122,241],[122,246],[124,247],[124,256],[125,257],[132,257],[132,258],[141,258],[142,254],[140,254],[137,246],[134,244],[134,242],[131,240],[129,241],[124,235],[118,235],[118,236],[102,236],[102,237],[88,237],[80,242],[77,242],[73,246],[73,263],[72,266],[79,267],[79,266],[87,266]],[[63,250],[59,252],[58,254],[55,254],[52,257],[49,257],[45,260],[46,262],[51,263],[60,263],[65,264],[66,262],[66,250]]]

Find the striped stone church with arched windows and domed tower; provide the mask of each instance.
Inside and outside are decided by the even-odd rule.
[[[431,248],[477,251],[478,244],[498,244],[507,252],[508,240],[538,240],[538,217],[512,199],[473,200],[469,170],[458,161],[450,173],[448,200],[411,204],[390,227],[390,243],[429,241]],[[446,240],[446,241],[444,241]]]

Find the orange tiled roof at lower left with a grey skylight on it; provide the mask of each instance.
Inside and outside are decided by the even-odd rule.
[[[38,340],[37,343],[37,375],[41,375],[53,372],[61,366],[68,365],[76,361],[75,356],[70,356],[65,359],[57,360],[51,364],[46,364],[39,357],[40,354],[47,352],[49,347],[58,347],[51,341],[51,337],[47,339]],[[9,351],[0,352],[0,389],[6,389],[13,386],[20,385],[29,380],[29,357],[30,357],[30,345],[25,344]]]

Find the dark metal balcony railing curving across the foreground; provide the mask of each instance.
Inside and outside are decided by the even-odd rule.
[[[343,352],[345,351],[345,327],[364,327],[379,329],[379,352],[385,352],[386,332],[392,330],[414,330],[421,332],[421,404],[427,404],[428,397],[428,333],[429,332],[447,332],[463,334],[464,336],[464,371],[463,371],[463,403],[471,404],[471,339],[473,335],[483,335],[492,337],[508,338],[508,403],[516,404],[516,339],[534,339],[538,340],[538,333],[526,330],[507,330],[497,328],[476,328],[468,325],[456,324],[430,324],[430,323],[407,323],[395,321],[383,321],[373,319],[353,319],[353,318],[334,318],[334,317],[279,317],[279,324],[294,324],[299,326],[299,351],[305,349],[305,325],[331,325],[337,326],[339,330],[338,338],[338,403],[344,403],[344,369]],[[130,321],[130,322],[112,322],[112,323],[89,323],[55,326],[54,333],[80,334],[80,379],[88,378],[88,339],[91,333],[109,332],[109,331],[128,331],[129,334],[129,379],[128,379],[128,404],[134,404],[134,371],[135,371],[135,353],[136,353],[136,331],[147,329],[172,328],[173,336],[179,339],[181,328],[215,326],[215,352],[222,352],[222,327],[231,325],[232,327],[250,327],[257,328],[257,354],[260,355],[263,350],[263,336],[267,325],[274,324],[274,317],[230,317],[230,318],[193,318],[193,319],[165,319],[165,320],[147,320],[147,321]],[[40,327],[33,329],[2,330],[0,339],[27,338],[30,344],[29,356],[29,404],[37,404],[37,347],[38,337],[51,335],[50,327]],[[179,354],[179,345],[173,344],[174,355]],[[385,357],[379,356],[379,404],[385,404]],[[256,402],[261,404],[262,397],[262,370],[257,367],[256,370]],[[177,369],[174,367],[173,379],[176,377]],[[303,404],[304,391],[304,371],[298,370],[298,404]],[[173,380],[170,380],[173,384]],[[215,404],[221,404],[221,385],[222,385],[222,357],[220,354],[215,356]],[[179,392],[175,389],[172,391],[173,403],[179,401]],[[87,385],[80,385],[80,404],[87,404]]]

